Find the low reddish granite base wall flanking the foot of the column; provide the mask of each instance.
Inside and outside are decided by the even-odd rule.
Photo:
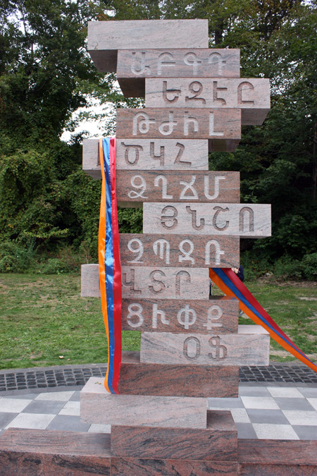
[[[0,435],[0,475],[315,476],[317,474],[317,441],[240,439],[236,461],[205,461],[111,458],[110,440],[110,435],[100,433],[7,429]]]

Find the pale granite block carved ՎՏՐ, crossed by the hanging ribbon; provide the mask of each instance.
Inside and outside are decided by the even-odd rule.
[[[209,299],[207,268],[121,267],[123,298]],[[82,264],[82,297],[100,296],[98,264]]]

